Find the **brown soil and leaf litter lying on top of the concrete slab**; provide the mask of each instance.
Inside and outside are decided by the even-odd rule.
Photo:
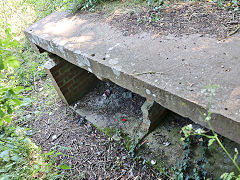
[[[224,10],[214,3],[182,2],[168,7],[136,8],[114,13],[107,20],[125,36],[140,31],[158,35],[200,34],[226,38],[240,26],[240,11]]]

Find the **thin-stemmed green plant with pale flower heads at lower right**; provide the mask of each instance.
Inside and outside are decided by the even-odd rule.
[[[226,155],[229,157],[229,159],[232,161],[232,163],[234,164],[234,166],[236,167],[239,175],[235,175],[234,172],[230,172],[230,173],[224,173],[221,178],[223,179],[227,179],[230,180],[232,178],[235,179],[240,179],[240,166],[237,164],[237,157],[238,157],[238,150],[237,148],[235,148],[235,154],[234,156],[230,155],[230,153],[227,151],[227,149],[224,147],[224,145],[222,144],[222,142],[220,141],[220,139],[218,138],[218,134],[214,131],[212,124],[210,122],[211,120],[211,105],[212,105],[212,99],[213,96],[215,95],[215,90],[218,88],[218,85],[208,85],[206,87],[206,89],[204,89],[202,91],[202,93],[204,93],[205,95],[209,94],[209,105],[207,107],[207,114],[203,114],[202,112],[200,112],[201,116],[203,117],[203,119],[205,120],[205,122],[207,122],[209,129],[211,130],[212,135],[208,135],[205,134],[201,129],[197,129],[197,130],[193,130],[192,125],[188,125],[182,128],[182,131],[184,133],[184,138],[182,138],[182,140],[184,141],[185,139],[189,138],[190,136],[193,135],[200,135],[203,137],[206,137],[208,139],[208,147],[210,147],[215,141],[219,144],[219,146],[223,149],[223,151],[226,153]]]

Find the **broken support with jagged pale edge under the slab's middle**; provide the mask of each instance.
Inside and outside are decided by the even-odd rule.
[[[142,128],[147,132],[154,130],[169,112],[168,109],[150,100],[145,101],[141,110],[143,113]]]

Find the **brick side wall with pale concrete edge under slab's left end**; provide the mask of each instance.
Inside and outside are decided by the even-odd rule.
[[[92,73],[66,60],[50,55],[44,69],[63,102],[70,105],[86,94],[99,81]]]

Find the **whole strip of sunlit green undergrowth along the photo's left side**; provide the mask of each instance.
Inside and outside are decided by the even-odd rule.
[[[42,153],[31,130],[19,126],[33,102],[29,91],[45,76],[47,54],[35,53],[22,32],[38,18],[26,1],[3,0],[0,8],[0,179],[63,179],[70,167],[56,164],[61,153]]]

